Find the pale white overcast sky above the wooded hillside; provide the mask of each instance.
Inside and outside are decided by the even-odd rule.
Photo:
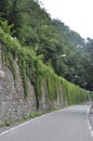
[[[93,0],[40,0],[52,18],[58,18],[83,38],[93,39]]]

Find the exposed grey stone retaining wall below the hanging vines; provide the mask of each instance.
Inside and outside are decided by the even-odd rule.
[[[64,104],[63,98],[51,102],[48,97],[46,84],[43,82],[43,95],[39,100],[39,110],[37,108],[34,86],[28,79],[29,94],[24,99],[23,82],[19,75],[19,68],[15,62],[16,68],[16,87],[14,86],[13,75],[6,67],[2,67],[1,50],[0,50],[0,121],[17,120],[29,113],[36,111],[44,111],[50,107],[59,107]]]

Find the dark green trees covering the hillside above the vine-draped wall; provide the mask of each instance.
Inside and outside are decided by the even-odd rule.
[[[0,0],[0,26],[9,35],[16,36],[22,44],[34,50],[38,47],[36,54],[43,54],[44,64],[51,62],[58,76],[93,90],[93,40],[88,38],[85,42],[65,23],[51,20],[39,4],[34,0]],[[6,35],[4,38],[11,46],[12,38]],[[17,41],[13,42],[18,46]],[[62,54],[67,55],[61,59]]]

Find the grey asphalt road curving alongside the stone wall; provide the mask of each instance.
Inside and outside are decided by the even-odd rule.
[[[93,141],[87,111],[79,105],[43,115],[0,133],[0,141]]]

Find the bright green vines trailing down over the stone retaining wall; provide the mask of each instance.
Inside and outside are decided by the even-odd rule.
[[[64,78],[55,75],[50,66],[45,66],[42,63],[42,55],[37,56],[36,52],[29,48],[22,48],[16,39],[13,39],[11,36],[4,34],[1,28],[0,41],[3,43],[3,65],[8,65],[8,67],[12,70],[16,82],[16,68],[14,62],[17,60],[23,80],[24,98],[26,99],[29,93],[29,79],[36,90],[37,107],[39,107],[39,99],[41,99],[43,94],[43,81],[46,84],[46,94],[51,102],[57,100],[59,95],[62,95],[65,101],[67,98],[69,104],[81,103],[88,100],[87,92],[83,89],[69,84]]]

